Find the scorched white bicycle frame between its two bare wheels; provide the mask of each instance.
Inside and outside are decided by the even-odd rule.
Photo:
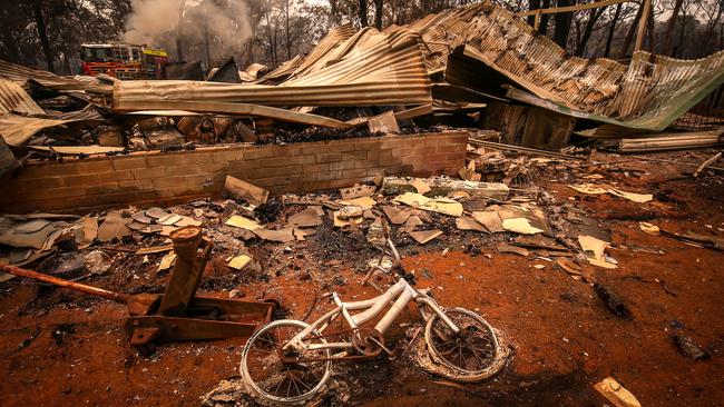
[[[438,316],[440,319],[450,327],[450,329],[458,334],[460,328],[458,328],[450,318],[442,311],[442,309],[437,305],[427,295],[427,290],[414,289],[407,280],[400,278],[398,282],[391,286],[384,294],[366,299],[363,301],[354,302],[343,302],[340,300],[340,297],[336,292],[332,292],[332,301],[336,305],[336,308],[323,315],[320,319],[315,320],[312,325],[306,327],[304,330],[295,335],[287,344],[284,345],[283,349],[293,349],[297,351],[302,350],[319,350],[319,349],[350,349],[354,348],[354,344],[346,341],[339,343],[320,343],[320,344],[310,344],[305,343],[304,338],[315,332],[314,336],[321,336],[324,330],[340,316],[344,318],[346,324],[352,329],[356,329],[360,325],[373,319],[376,317],[388,304],[392,304],[387,314],[380,319],[374,326],[381,336],[388,330],[392,325],[395,318],[402,312],[402,310],[408,306],[410,300],[415,300],[418,304],[427,305],[430,309]],[[397,299],[395,299],[397,298]],[[350,311],[359,311],[356,315],[350,314]]]

